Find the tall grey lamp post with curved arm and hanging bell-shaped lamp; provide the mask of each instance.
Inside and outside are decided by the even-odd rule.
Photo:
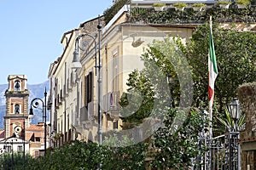
[[[99,144],[102,144],[102,111],[101,111],[101,97],[102,97],[102,73],[101,73],[101,69],[102,69],[102,59],[101,59],[101,31],[102,31],[102,24],[101,24],[101,20],[100,17],[98,18],[98,25],[97,25],[97,29],[98,29],[98,61],[96,59],[96,37],[94,37],[93,35],[89,34],[89,33],[84,33],[79,35],[79,37],[76,38],[75,40],[75,49],[73,52],[73,65],[72,68],[73,69],[79,69],[82,67],[80,61],[79,61],[79,40],[81,37],[91,37],[93,42],[94,42],[94,49],[95,49],[95,67],[96,67],[96,75],[98,74],[98,104],[97,104],[97,108],[98,108],[98,142]],[[97,71],[98,70],[98,71]]]

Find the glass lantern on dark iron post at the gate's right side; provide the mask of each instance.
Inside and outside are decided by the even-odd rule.
[[[239,100],[234,98],[228,105],[230,117],[234,120],[234,127],[229,132],[229,169],[240,169],[240,145],[238,144],[239,131],[237,121],[240,117]]]

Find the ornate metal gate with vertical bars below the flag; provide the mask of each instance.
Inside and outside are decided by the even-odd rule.
[[[205,133],[199,135],[199,147],[206,149],[204,156],[192,160],[192,170],[239,170],[239,133],[227,130],[215,138]]]

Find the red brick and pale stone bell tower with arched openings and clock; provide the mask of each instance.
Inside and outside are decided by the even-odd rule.
[[[6,113],[4,116],[5,138],[13,134],[24,136],[28,127],[28,96],[26,75],[9,75],[9,88],[5,91]]]

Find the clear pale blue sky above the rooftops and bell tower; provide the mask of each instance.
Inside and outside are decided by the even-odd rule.
[[[0,0],[0,84],[25,74],[28,84],[48,79],[62,54],[63,33],[111,7],[112,0]]]

